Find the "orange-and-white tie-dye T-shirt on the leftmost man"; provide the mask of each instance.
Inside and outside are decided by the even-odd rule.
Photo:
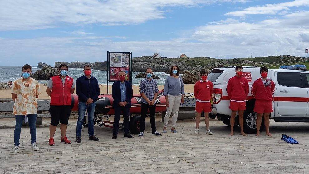
[[[17,94],[13,114],[26,115],[37,113],[37,97],[40,94],[39,82],[33,78],[19,78],[13,82],[12,94]]]

